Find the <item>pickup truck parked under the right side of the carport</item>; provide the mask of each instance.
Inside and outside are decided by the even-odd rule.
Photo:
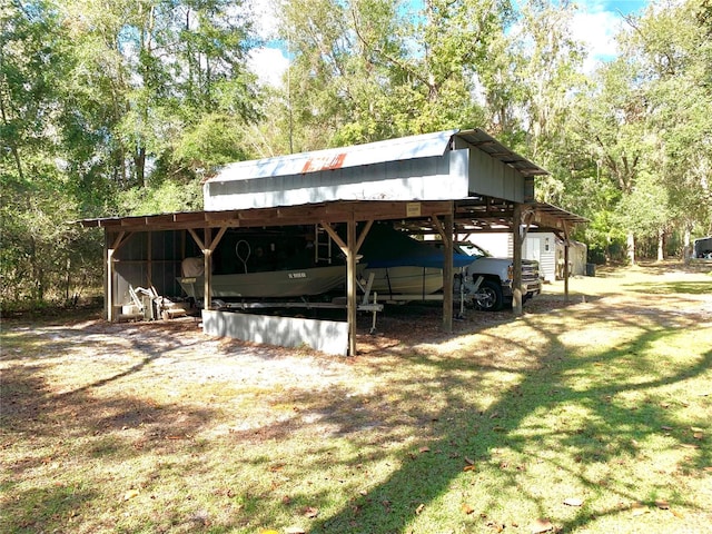
[[[465,267],[467,283],[476,284],[482,276],[482,281],[473,295],[472,301],[487,312],[498,312],[505,306],[512,306],[514,279],[514,261],[512,258],[495,258],[476,245],[461,245],[462,251],[477,257]],[[534,295],[542,293],[542,277],[540,276],[538,261],[522,259],[522,301],[526,301]]]

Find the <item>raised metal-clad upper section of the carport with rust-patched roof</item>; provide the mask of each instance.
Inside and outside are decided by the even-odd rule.
[[[496,152],[486,151],[493,147]],[[208,211],[334,200],[457,200],[471,194],[521,202],[525,171],[545,174],[485,132],[447,130],[230,164],[205,184],[204,199]]]

